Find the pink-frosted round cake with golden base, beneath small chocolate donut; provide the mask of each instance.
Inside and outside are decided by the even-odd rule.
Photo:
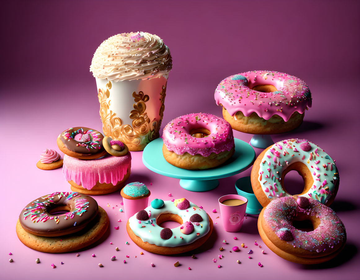
[[[64,155],[63,174],[71,189],[83,194],[106,194],[119,190],[130,176],[131,154],[105,155],[84,160]]]

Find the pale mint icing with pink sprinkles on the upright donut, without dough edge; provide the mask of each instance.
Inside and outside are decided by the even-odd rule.
[[[338,171],[324,150],[305,139],[279,141],[266,151],[258,173],[258,180],[266,196],[272,200],[290,195],[282,188],[280,181],[283,171],[294,162],[305,164],[314,179],[312,188],[302,196],[326,204],[339,180]]]

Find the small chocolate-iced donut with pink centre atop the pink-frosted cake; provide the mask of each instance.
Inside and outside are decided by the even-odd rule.
[[[103,147],[104,136],[88,127],[73,127],[63,131],[56,143],[61,152],[73,158],[95,159],[107,154]]]

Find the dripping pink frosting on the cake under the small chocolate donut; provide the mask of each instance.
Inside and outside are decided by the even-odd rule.
[[[96,182],[116,185],[131,166],[131,154],[122,157],[106,155],[102,158],[85,160],[64,155],[63,174],[67,181],[74,181],[91,190]]]

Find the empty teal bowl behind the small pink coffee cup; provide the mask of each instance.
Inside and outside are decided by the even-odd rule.
[[[258,202],[252,187],[250,176],[242,177],[235,182],[235,189],[239,195],[246,197],[248,199],[248,204],[246,207],[246,213],[256,215],[259,214],[262,206]]]

